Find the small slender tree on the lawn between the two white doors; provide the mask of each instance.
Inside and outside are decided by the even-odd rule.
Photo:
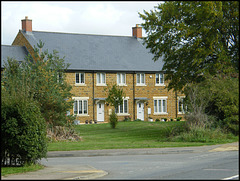
[[[119,105],[123,104],[123,97],[124,97],[123,90],[117,87],[116,84],[114,84],[111,88],[108,86],[108,97],[106,99],[106,102],[109,103],[111,106],[114,106],[112,114],[110,115],[110,125],[112,128],[116,128],[117,126],[118,119],[115,109]]]

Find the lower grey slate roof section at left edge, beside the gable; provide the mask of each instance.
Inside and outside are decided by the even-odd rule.
[[[7,62],[7,57],[14,58],[17,61],[24,61],[28,51],[24,46],[1,45],[1,68]]]

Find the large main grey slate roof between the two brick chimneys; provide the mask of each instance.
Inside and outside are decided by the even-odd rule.
[[[42,40],[43,50],[52,52],[55,49],[60,57],[65,56],[65,62],[71,64],[68,70],[156,72],[163,66],[161,60],[152,60],[153,55],[135,37],[42,31],[22,33],[32,47],[37,47]]]

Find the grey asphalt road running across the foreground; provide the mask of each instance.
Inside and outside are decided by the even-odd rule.
[[[42,160],[46,166],[89,165],[108,172],[98,178],[115,179],[233,179],[239,177],[239,152],[170,153],[156,155],[117,155],[92,157],[58,157]]]

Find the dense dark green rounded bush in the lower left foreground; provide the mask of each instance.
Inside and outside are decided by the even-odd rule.
[[[46,157],[46,123],[40,108],[22,97],[4,94],[1,107],[1,165],[36,163]]]

